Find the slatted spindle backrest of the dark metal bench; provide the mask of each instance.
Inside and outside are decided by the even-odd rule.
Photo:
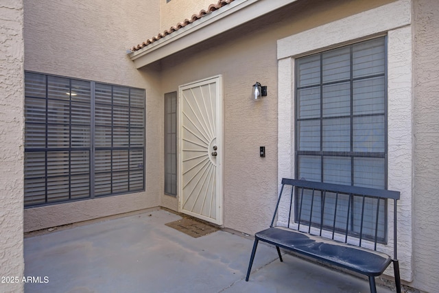
[[[284,190],[287,186],[290,186],[289,192],[285,192],[287,188]],[[281,200],[285,194],[286,202]],[[281,203],[289,206],[288,228],[345,243],[348,243],[348,238],[355,238],[357,242],[349,243],[357,246],[364,246],[364,240],[367,240],[377,250],[377,243],[387,242],[387,202],[393,200],[396,259],[396,200],[399,200],[399,196],[399,191],[283,178],[271,226],[274,225]]]

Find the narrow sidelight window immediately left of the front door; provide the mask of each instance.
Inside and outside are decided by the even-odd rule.
[[[177,195],[177,92],[165,94],[165,194]]]

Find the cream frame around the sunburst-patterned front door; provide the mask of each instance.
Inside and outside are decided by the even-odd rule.
[[[217,219],[213,220],[212,218],[206,217],[204,215],[200,215],[197,213],[191,213],[189,211],[182,211],[182,144],[180,143],[180,139],[182,137],[182,91],[185,88],[191,88],[202,84],[209,84],[212,82],[217,83],[217,97],[216,97],[216,140],[219,150],[218,155],[216,157],[216,167],[217,167],[217,176],[216,176],[216,215]],[[224,95],[223,95],[223,82],[222,75],[214,75],[210,78],[204,78],[202,80],[197,80],[194,82],[189,82],[187,84],[182,84],[178,86],[178,99],[177,99],[177,109],[178,109],[178,137],[177,137],[177,194],[178,194],[178,212],[185,213],[187,215],[192,215],[195,218],[199,218],[201,220],[206,220],[213,224],[217,224],[222,226],[224,224]]]

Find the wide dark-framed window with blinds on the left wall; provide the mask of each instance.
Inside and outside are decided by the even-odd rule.
[[[25,73],[25,207],[145,189],[145,91]]]

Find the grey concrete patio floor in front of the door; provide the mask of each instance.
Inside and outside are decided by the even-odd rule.
[[[369,292],[366,280],[292,255],[281,263],[264,244],[246,282],[252,239],[226,231],[193,238],[165,226],[180,218],[145,211],[25,237],[25,276],[42,280],[25,292]]]

